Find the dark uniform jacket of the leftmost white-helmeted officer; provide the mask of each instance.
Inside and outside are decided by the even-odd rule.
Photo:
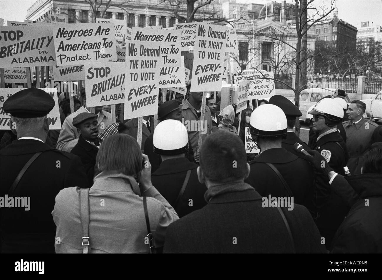
[[[151,175],[152,185],[174,207],[179,217],[183,217],[207,204],[204,200],[207,187],[197,179],[197,167],[197,164],[191,163],[187,158],[170,158],[163,161]],[[191,170],[188,184],[178,204],[175,205],[188,170]],[[190,201],[190,199],[192,200]]]

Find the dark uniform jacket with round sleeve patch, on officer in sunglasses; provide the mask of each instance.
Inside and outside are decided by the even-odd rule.
[[[338,133],[337,127],[333,127],[326,133],[319,135],[313,150],[319,151],[335,172],[345,175],[343,167],[346,166],[348,153],[346,144],[340,133]],[[325,237],[325,244],[329,249],[338,226],[340,226],[350,208],[332,190],[325,177],[317,174],[315,186],[318,212],[316,224],[322,236]]]

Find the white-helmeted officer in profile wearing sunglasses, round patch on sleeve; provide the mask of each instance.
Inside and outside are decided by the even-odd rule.
[[[345,175],[343,168],[348,160],[348,152],[337,131],[337,125],[343,118],[342,107],[331,98],[323,98],[308,113],[313,115],[312,130],[319,134],[312,150],[319,151],[335,172]],[[316,224],[329,249],[335,232],[350,209],[330,188],[326,178],[317,175],[315,196],[319,215]]]

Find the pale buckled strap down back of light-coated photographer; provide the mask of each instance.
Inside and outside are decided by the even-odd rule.
[[[82,224],[82,253],[90,253],[90,237],[89,237],[89,190],[90,189],[79,189],[79,208],[80,208],[80,218]]]

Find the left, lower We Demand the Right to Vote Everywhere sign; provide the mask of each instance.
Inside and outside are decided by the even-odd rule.
[[[158,112],[160,42],[126,41],[125,118]]]

